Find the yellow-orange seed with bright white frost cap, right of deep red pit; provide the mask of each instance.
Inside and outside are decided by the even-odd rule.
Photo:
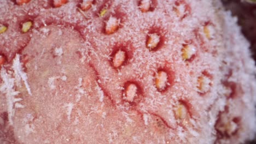
[[[193,45],[183,45],[182,59],[183,61],[191,61],[195,57],[196,48]]]

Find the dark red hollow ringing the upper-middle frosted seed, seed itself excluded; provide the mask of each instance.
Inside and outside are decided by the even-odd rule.
[[[149,35],[150,34],[157,34],[160,39],[159,39],[159,43],[156,45],[156,47],[154,47],[154,49],[150,49],[150,51],[154,52],[154,51],[158,51],[160,50],[164,45],[165,45],[165,40],[166,40],[166,36],[165,36],[165,29],[162,27],[158,27],[158,26],[152,26],[148,29],[148,34],[146,36],[146,41],[145,41],[145,45],[147,47],[147,43],[149,40]]]

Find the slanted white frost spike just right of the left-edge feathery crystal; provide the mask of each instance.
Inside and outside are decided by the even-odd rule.
[[[12,68],[15,73],[15,79],[18,81],[20,81],[20,79],[22,79],[22,81],[24,81],[24,84],[27,88],[28,94],[32,95],[30,86],[28,85],[28,82],[27,82],[27,74],[22,70],[22,63],[20,62],[20,55],[17,54],[16,57],[14,58]]]

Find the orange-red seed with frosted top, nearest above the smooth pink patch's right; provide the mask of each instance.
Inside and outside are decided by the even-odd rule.
[[[113,34],[114,32],[118,31],[119,24],[120,24],[119,19],[117,19],[116,17],[110,16],[108,21],[106,22],[105,33]]]

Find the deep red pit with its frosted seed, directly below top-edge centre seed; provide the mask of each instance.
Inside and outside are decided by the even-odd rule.
[[[149,51],[157,51],[164,45],[164,30],[159,27],[152,27],[146,37],[146,47]]]

